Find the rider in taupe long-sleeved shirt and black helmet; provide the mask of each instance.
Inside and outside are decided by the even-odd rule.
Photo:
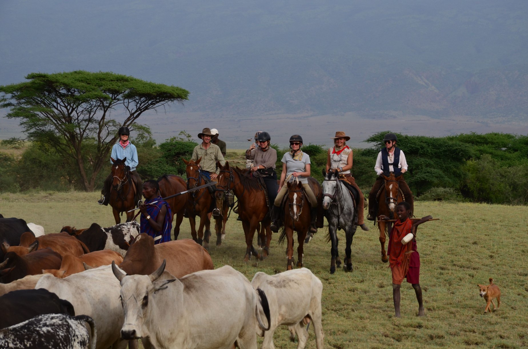
[[[251,174],[253,177],[262,178],[268,191],[269,202],[274,202],[279,191],[275,172],[277,151],[270,147],[270,141],[271,137],[268,132],[260,132],[257,137],[258,147],[251,144],[251,147],[246,150],[246,159],[253,160],[254,166],[250,169]]]

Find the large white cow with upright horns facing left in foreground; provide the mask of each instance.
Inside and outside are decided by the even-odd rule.
[[[125,324],[121,336],[142,338],[146,348],[257,348],[255,326],[267,328],[258,311],[258,297],[269,309],[266,295],[230,266],[201,270],[180,279],[164,272],[165,261],[150,275],[121,274]]]

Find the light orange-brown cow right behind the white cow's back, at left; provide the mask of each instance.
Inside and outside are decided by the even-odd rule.
[[[86,263],[92,268],[97,268],[101,265],[110,265],[112,261],[119,264],[123,261],[123,257],[116,251],[110,250],[93,251],[80,257],[68,255],[62,257],[60,269],[43,269],[42,273],[50,273],[56,277],[64,278],[71,274],[84,272],[86,269],[84,269],[83,263]]]

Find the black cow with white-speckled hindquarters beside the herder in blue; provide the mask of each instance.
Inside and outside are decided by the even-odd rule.
[[[136,221],[131,221],[101,228],[97,223],[92,223],[87,229],[62,227],[62,231],[66,231],[82,241],[91,252],[103,249],[112,250],[125,257],[131,241],[139,234],[139,224]]]

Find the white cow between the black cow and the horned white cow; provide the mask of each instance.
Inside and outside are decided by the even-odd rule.
[[[101,266],[63,279],[43,275],[35,288],[45,288],[68,300],[76,314],[88,315],[97,324],[97,348],[126,348],[119,331],[124,321],[119,300],[121,286],[111,266]]]

